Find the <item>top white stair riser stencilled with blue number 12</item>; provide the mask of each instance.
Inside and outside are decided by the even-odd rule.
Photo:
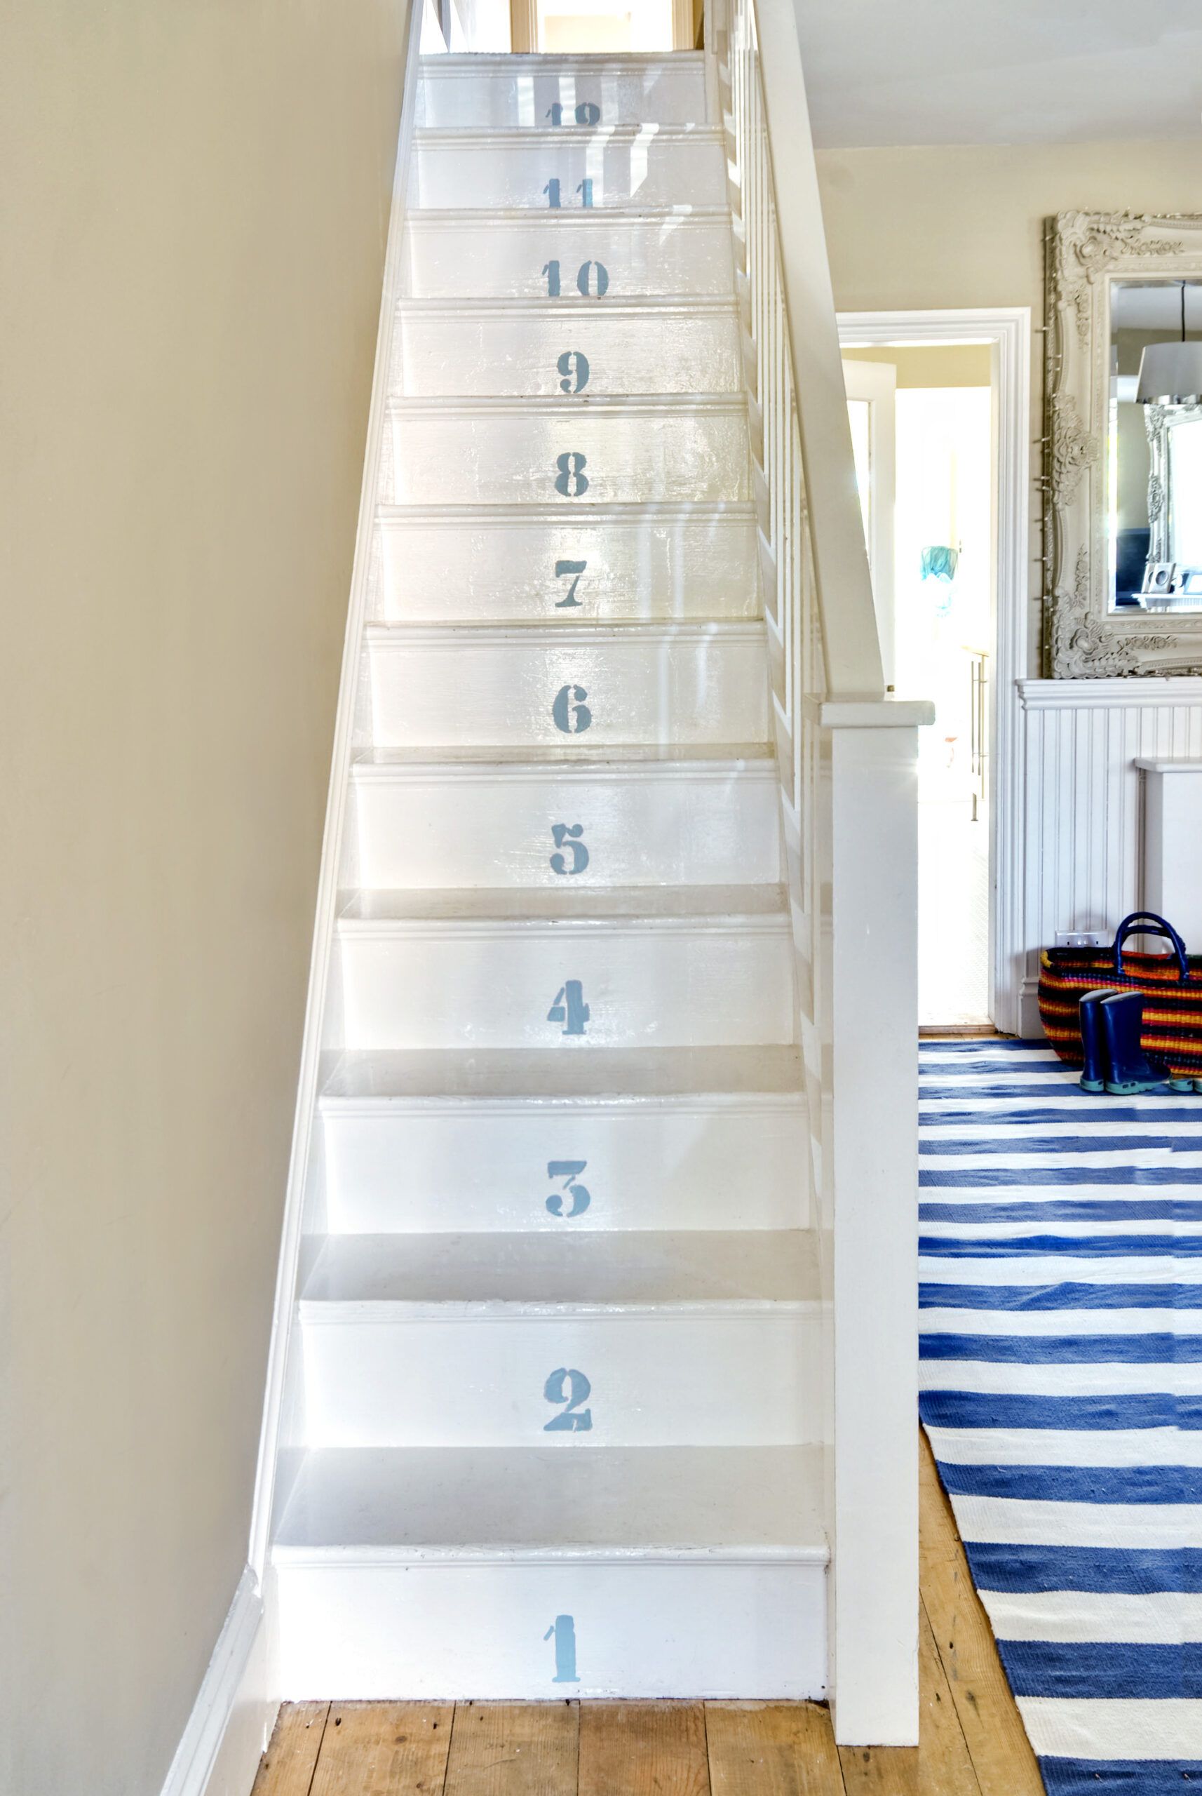
[[[705,72],[700,63],[623,68],[617,63],[549,68],[513,61],[481,68],[427,63],[418,84],[418,124],[475,131],[515,128],[547,131],[553,106],[560,122],[576,124],[576,108],[597,108],[594,124],[701,124]],[[587,124],[587,119],[579,120]]]

